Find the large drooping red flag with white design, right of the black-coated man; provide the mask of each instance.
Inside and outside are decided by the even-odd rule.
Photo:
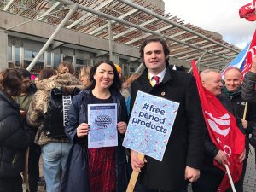
[[[191,64],[200,95],[207,130],[212,143],[227,155],[230,163],[230,174],[233,177],[233,181],[236,182],[241,177],[242,163],[239,162],[239,155],[245,148],[245,137],[236,125],[236,118],[224,108],[216,96],[212,95],[211,92],[202,86],[195,61],[191,61]],[[224,167],[220,166],[216,160],[213,163],[214,166],[225,172]],[[218,187],[218,192],[224,192],[229,187],[230,180],[226,173],[222,183]]]

